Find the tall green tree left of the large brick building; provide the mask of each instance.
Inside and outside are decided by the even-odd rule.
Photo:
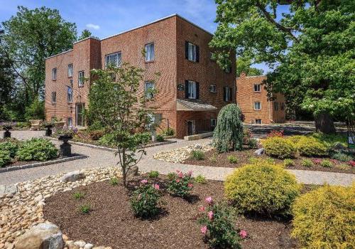
[[[59,11],[45,7],[33,10],[18,6],[4,26],[6,58],[13,61],[18,79],[16,90],[23,91],[25,105],[44,97],[45,58],[67,51],[76,41],[75,23],[62,19]]]

